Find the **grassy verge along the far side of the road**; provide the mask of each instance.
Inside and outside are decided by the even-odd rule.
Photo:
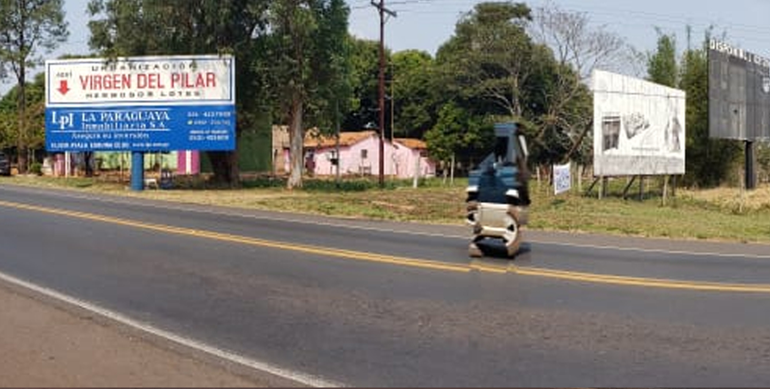
[[[15,185],[71,188],[164,201],[216,204],[229,207],[295,211],[348,218],[462,224],[464,180],[453,186],[439,179],[412,188],[410,181],[389,181],[386,189],[370,181],[346,181],[343,190],[329,181],[307,181],[303,190],[289,191],[278,182],[246,181],[241,190],[188,189],[129,191],[125,183],[99,178],[0,178]],[[644,237],[710,239],[770,243],[770,185],[755,191],[716,188],[703,191],[678,189],[675,198],[662,204],[658,188],[647,188],[645,198],[621,198],[624,180],[611,184],[599,200],[573,189],[554,196],[547,185],[533,182],[529,228],[553,231],[598,232]],[[638,195],[638,189],[632,195]]]

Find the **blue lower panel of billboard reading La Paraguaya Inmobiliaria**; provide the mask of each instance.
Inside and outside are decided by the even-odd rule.
[[[46,108],[48,151],[233,150],[233,105]]]

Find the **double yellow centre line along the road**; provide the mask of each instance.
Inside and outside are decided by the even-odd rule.
[[[512,262],[506,265],[487,264],[484,261],[472,261],[469,264],[451,264],[440,261],[429,261],[417,258],[397,257],[393,255],[375,254],[366,251],[343,250],[339,248],[325,248],[309,244],[294,244],[280,241],[268,241],[259,238],[250,238],[245,236],[223,234],[214,231],[198,230],[194,228],[181,228],[164,224],[152,224],[142,221],[133,221],[129,219],[113,218],[100,214],[89,214],[78,211],[66,211],[56,208],[41,207],[38,205],[22,204],[10,201],[0,201],[0,206],[7,208],[21,209],[25,211],[36,211],[45,214],[55,214],[70,218],[79,218],[90,221],[99,221],[102,223],[124,225],[132,228],[139,228],[149,231],[159,231],[166,234],[177,234],[182,236],[192,236],[196,238],[207,238],[216,241],[228,241],[238,244],[248,244],[265,248],[276,248],[280,250],[299,251],[307,254],[317,254],[335,258],[350,259],[354,261],[369,261],[382,264],[395,264],[408,266],[411,268],[424,268],[440,271],[455,271],[460,273],[469,273],[471,271],[480,271],[495,274],[518,274],[542,278],[555,278],[567,281],[588,282],[594,284],[615,284],[626,286],[637,286],[646,288],[669,288],[685,289],[692,291],[721,291],[721,292],[745,292],[745,293],[770,293],[770,284],[728,284],[719,282],[701,282],[701,281],[680,281],[661,278],[637,278],[609,274],[593,274],[577,271],[561,271],[547,268],[533,268],[515,266]]]

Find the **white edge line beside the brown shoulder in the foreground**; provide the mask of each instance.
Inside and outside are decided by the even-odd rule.
[[[12,275],[8,275],[3,272],[0,272],[0,280],[6,281],[10,284],[15,284],[16,286],[19,286],[22,288],[27,288],[29,290],[35,291],[36,293],[43,294],[46,297],[54,298],[56,300],[63,301],[67,304],[75,305],[76,307],[85,309],[86,311],[99,314],[105,318],[108,318],[109,320],[117,321],[120,324],[124,324],[129,327],[136,328],[140,331],[147,332],[157,337],[162,337],[167,341],[172,341],[176,344],[181,344],[182,346],[190,347],[197,351],[203,351],[215,357],[222,358],[223,360],[234,362],[236,364],[241,364],[246,367],[251,367],[258,371],[264,371],[266,373],[273,374],[277,377],[286,378],[286,379],[293,380],[301,384],[309,385],[312,387],[343,387],[344,386],[342,384],[339,384],[333,381],[326,381],[323,378],[314,376],[312,374],[305,374],[305,373],[300,373],[298,371],[291,371],[283,367],[277,367],[274,364],[269,364],[262,361],[256,361],[249,357],[244,357],[243,355],[235,354],[230,351],[225,351],[220,348],[211,346],[209,344],[205,344],[201,341],[196,341],[189,337],[183,337],[177,334],[173,334],[169,331],[161,330],[158,327],[152,326],[151,324],[146,324],[140,321],[136,321],[132,318],[128,318],[126,315],[119,314],[114,311],[110,311],[109,309],[99,307],[98,305],[80,300],[78,298],[73,298],[72,296],[69,296],[67,294],[62,294],[62,293],[59,293],[58,291],[54,291],[52,289],[39,286],[37,284],[32,284],[31,282],[28,282],[28,281],[23,281],[19,278],[15,278]]]

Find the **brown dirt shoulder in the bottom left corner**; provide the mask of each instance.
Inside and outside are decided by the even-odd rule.
[[[0,281],[6,387],[273,387],[295,383]]]

